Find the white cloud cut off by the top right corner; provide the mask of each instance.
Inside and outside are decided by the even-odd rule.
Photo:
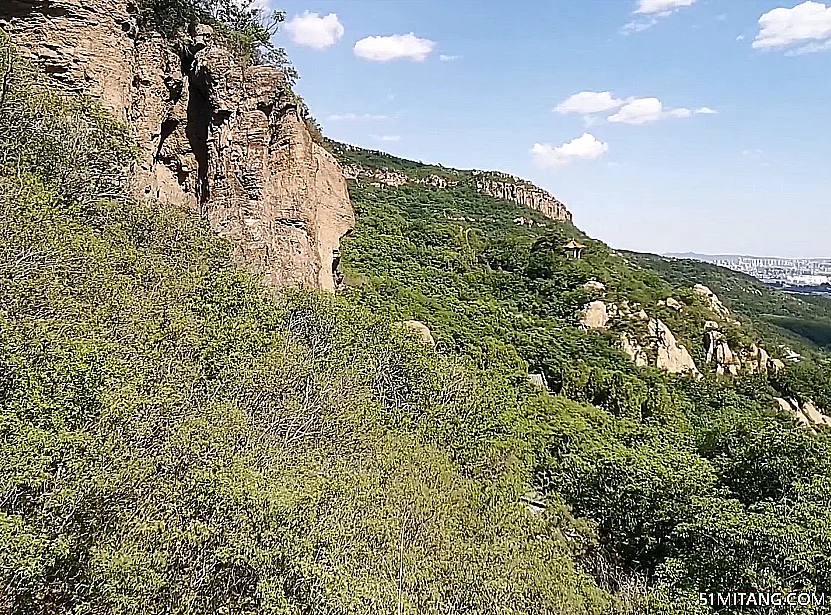
[[[831,5],[808,1],[791,9],[773,9],[762,15],[759,18],[759,33],[753,41],[753,48],[776,49],[814,41],[812,45],[806,46],[811,49],[804,51],[810,53],[828,49],[829,39]],[[820,43],[817,44],[816,41]]]

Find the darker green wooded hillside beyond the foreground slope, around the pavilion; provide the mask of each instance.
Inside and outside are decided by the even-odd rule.
[[[360,160],[387,165],[372,152]],[[595,526],[598,550],[584,564],[602,586],[642,584],[679,613],[717,588],[829,590],[831,442],[798,427],[774,400],[801,396],[829,407],[825,355],[813,352],[779,374],[717,377],[702,344],[714,316],[691,290],[704,282],[727,291],[712,277],[651,268],[647,257],[616,253],[463,182],[442,189],[358,180],[351,194],[350,301],[423,321],[439,354],[468,357],[486,373],[516,383],[545,375],[552,395],[514,426],[531,445],[534,487]],[[562,249],[570,239],[587,246],[582,259]],[[639,304],[668,323],[704,377],[635,367],[619,349],[620,331],[577,327],[596,296],[591,281],[606,286],[607,302]],[[683,312],[662,305],[668,297]],[[746,302],[730,302],[741,318],[730,335],[777,348],[779,338],[753,324],[758,312],[748,306],[768,308]]]

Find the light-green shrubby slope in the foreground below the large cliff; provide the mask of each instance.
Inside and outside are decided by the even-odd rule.
[[[0,612],[616,610],[574,561],[590,532],[521,501],[493,407],[533,400],[124,198],[128,128],[10,51]]]

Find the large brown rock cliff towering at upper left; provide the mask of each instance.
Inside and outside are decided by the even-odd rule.
[[[2,0],[0,28],[134,127],[140,194],[198,210],[272,285],[333,289],[354,214],[283,74],[246,66],[205,26],[175,43],[140,34],[136,13],[129,0]]]

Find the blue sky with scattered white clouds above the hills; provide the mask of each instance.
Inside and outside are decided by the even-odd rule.
[[[520,175],[618,248],[831,256],[831,4],[272,2],[334,139]]]

